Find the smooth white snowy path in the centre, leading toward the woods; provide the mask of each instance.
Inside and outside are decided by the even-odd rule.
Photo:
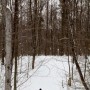
[[[70,90],[67,87],[68,57],[40,56],[36,58],[37,67],[39,62],[40,68],[18,90]]]

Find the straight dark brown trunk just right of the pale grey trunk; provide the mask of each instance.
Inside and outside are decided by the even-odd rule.
[[[15,70],[14,70],[14,90],[17,90],[17,57],[18,57],[18,0],[15,0],[14,12],[14,54],[15,54]]]

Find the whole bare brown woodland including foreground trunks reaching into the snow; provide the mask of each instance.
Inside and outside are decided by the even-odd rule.
[[[90,54],[90,0],[0,0],[0,57],[6,57],[7,77],[11,78],[15,57],[71,55],[86,90],[76,55]],[[10,69],[11,68],[11,69]],[[9,70],[9,71],[8,71]],[[10,90],[6,77],[6,88]]]

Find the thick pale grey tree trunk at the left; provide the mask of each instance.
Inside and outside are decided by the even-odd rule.
[[[5,90],[11,90],[11,75],[12,75],[12,21],[11,21],[11,11],[9,7],[6,7],[5,12],[6,27],[5,27]]]

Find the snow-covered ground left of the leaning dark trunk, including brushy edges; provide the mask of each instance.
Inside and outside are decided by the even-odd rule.
[[[74,80],[71,87],[68,85],[68,60],[70,61],[70,68],[72,68],[71,57],[36,56],[35,69],[32,70],[32,56],[19,57],[17,90],[39,90],[40,88],[42,90],[84,90],[83,87],[81,88],[82,84],[77,70],[74,72]],[[74,69],[76,69],[75,65]],[[0,90],[4,90],[4,67],[0,67],[0,73]]]

